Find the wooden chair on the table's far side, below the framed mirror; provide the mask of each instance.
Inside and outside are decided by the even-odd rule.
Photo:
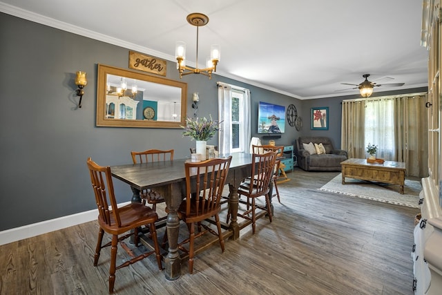
[[[173,161],[173,149],[162,151],[158,149],[149,149],[147,151],[131,151],[133,164],[137,164],[137,162],[159,162],[159,161]],[[165,202],[164,197],[161,196],[155,190],[145,189],[140,191],[140,198],[142,199],[142,203],[152,205],[153,211],[157,211],[157,204]],[[164,218],[160,218],[164,219]]]

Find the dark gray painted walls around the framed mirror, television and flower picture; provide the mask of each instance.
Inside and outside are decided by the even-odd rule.
[[[97,64],[128,68],[127,48],[3,13],[0,40],[0,231],[96,209],[88,157],[102,165],[127,164],[130,151],[171,147],[175,158],[189,156],[195,142],[182,137],[180,129],[95,126]],[[179,80],[175,63],[167,66],[167,78]],[[75,96],[77,70],[88,73],[82,108]],[[189,75],[181,81],[188,84],[188,115],[193,115],[191,93],[198,92],[198,115],[217,117],[216,82],[226,82],[251,90],[252,136],[258,136],[258,102],[295,104],[304,127],[298,132],[286,121],[286,133],[276,144],[291,144],[302,133],[330,136],[340,145],[342,97],[300,101],[217,75],[211,80]],[[328,131],[310,131],[312,106],[329,106]],[[115,180],[114,185],[118,202],[131,200],[126,184]]]

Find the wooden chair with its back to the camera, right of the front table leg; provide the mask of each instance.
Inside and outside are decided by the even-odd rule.
[[[232,156],[229,158],[215,158],[202,162],[186,162],[186,198],[177,210],[180,220],[186,222],[189,228],[189,238],[179,243],[180,250],[189,254],[189,272],[193,273],[193,258],[195,256],[195,238],[210,232],[218,236],[220,246],[224,252],[224,238],[222,237],[220,224],[221,195],[224,189],[227,173]],[[209,226],[202,223],[207,218],[215,217],[218,229],[216,233]],[[195,234],[195,225],[198,226],[198,234]],[[204,231],[202,231],[204,228]],[[184,245],[189,243],[189,247]]]

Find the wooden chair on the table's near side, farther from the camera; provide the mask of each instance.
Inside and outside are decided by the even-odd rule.
[[[238,213],[238,216],[251,220],[253,234],[256,232],[256,209],[267,211],[267,216],[269,216],[269,221],[271,222],[269,183],[273,178],[275,163],[276,152],[253,153],[251,177],[248,180],[244,180],[238,188],[238,195],[247,197],[247,209],[243,213]],[[265,206],[256,204],[255,199],[260,196],[265,196]],[[249,216],[250,213],[251,217]],[[229,220],[229,217],[230,212],[228,213],[227,220]]]

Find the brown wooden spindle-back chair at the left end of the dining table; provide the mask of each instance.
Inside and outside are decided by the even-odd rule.
[[[109,268],[109,293],[113,293],[115,285],[115,272],[117,269],[127,267],[137,261],[140,261],[151,254],[155,254],[157,258],[158,269],[162,270],[160,247],[157,241],[157,232],[155,230],[155,221],[157,221],[157,213],[150,207],[141,203],[131,203],[123,207],[117,207],[115,194],[113,190],[113,182],[111,175],[111,167],[99,166],[93,162],[91,158],[87,161],[90,172],[90,181],[95,193],[95,201],[98,207],[98,240],[95,248],[94,266],[97,266],[99,254],[102,248],[111,246],[111,267]],[[112,209],[110,208],[112,207]],[[140,227],[148,226],[151,238],[153,240],[154,249],[139,256],[135,256],[133,251],[123,242],[124,239],[135,235],[135,246],[138,246],[140,237],[138,231]],[[111,242],[102,245],[104,232],[112,235]],[[126,233],[126,234],[125,234]],[[120,236],[124,234],[123,236]],[[121,265],[116,266],[117,245],[118,242],[127,254],[131,256],[130,260],[125,260]]]

